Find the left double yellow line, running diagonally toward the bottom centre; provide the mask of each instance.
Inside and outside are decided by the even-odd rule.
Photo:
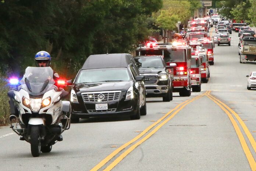
[[[121,152],[121,150],[123,150],[124,148],[126,148],[127,146],[131,145],[132,143],[134,143],[135,141],[139,140],[139,138],[141,138],[143,135],[145,135],[150,129],[152,129],[154,126],[156,126],[157,124],[159,124],[162,120],[164,120],[165,118],[167,118],[172,112],[175,112],[169,116],[166,120],[164,120],[163,122],[161,122],[157,127],[155,127],[149,134],[147,134],[145,137],[143,137],[141,140],[139,140],[138,142],[136,142],[134,145],[132,145],[130,148],[128,148],[127,150],[125,150],[125,152],[123,152],[120,156],[118,156],[111,164],[109,164],[109,166],[107,166],[106,169],[104,169],[104,171],[108,171],[108,170],[112,170],[122,159],[124,159],[124,157],[126,157],[129,153],[132,152],[132,150],[134,150],[137,146],[139,146],[140,144],[142,144],[144,141],[146,141],[148,138],[150,138],[154,133],[156,133],[156,131],[158,131],[162,126],[164,126],[164,124],[166,124],[169,120],[171,120],[179,111],[181,111],[181,109],[183,109],[186,105],[188,105],[189,103],[198,100],[199,98],[205,96],[207,93],[210,93],[210,91],[207,91],[206,93],[200,95],[200,96],[196,96],[194,98],[192,98],[191,100],[186,100],[183,103],[177,105],[174,109],[172,109],[171,111],[169,111],[166,115],[164,115],[162,118],[160,118],[159,120],[157,120],[157,122],[153,123],[152,125],[150,125],[149,127],[147,127],[144,131],[142,131],[139,135],[137,135],[135,138],[133,138],[131,141],[125,143],[124,145],[120,146],[118,149],[114,150],[114,152],[112,152],[109,156],[107,156],[105,159],[103,159],[102,161],[100,161],[99,164],[97,164],[95,167],[93,167],[91,169],[91,171],[96,171],[99,170],[100,168],[102,168],[108,161],[110,161],[111,159],[113,159],[113,157],[115,155],[117,155],[119,152]]]

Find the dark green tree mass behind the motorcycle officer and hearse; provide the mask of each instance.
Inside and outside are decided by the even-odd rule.
[[[0,2],[0,71],[10,67],[23,73],[44,50],[54,70],[67,79],[75,77],[89,55],[132,52],[150,35],[152,12],[163,5],[162,0]]]

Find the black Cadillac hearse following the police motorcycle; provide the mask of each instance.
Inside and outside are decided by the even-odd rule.
[[[143,76],[130,54],[90,55],[73,82],[73,122],[79,118],[146,115]]]

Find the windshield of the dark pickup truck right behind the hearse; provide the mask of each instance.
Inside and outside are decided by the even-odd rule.
[[[164,68],[160,57],[135,57],[138,68]]]

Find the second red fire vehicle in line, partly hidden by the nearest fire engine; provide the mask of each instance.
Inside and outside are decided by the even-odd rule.
[[[191,86],[193,92],[201,91],[201,65],[202,56],[192,56],[191,58]]]

